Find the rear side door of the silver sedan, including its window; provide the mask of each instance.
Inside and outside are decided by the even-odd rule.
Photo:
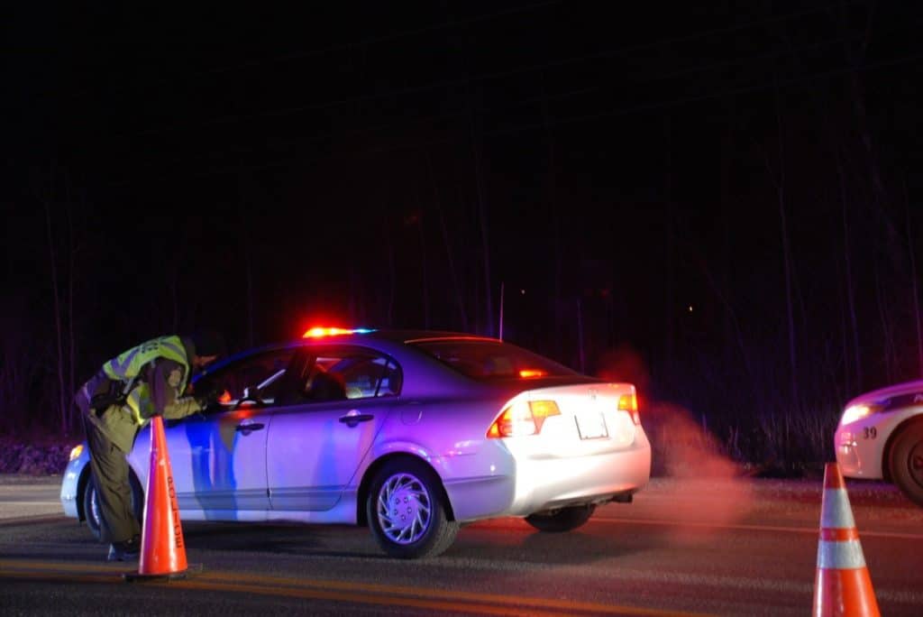
[[[330,510],[387,421],[400,369],[364,348],[328,347],[306,355],[297,383],[299,399],[277,408],[270,427],[270,505]]]

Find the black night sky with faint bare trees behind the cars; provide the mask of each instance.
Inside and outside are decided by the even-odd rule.
[[[7,393],[199,327],[498,335],[501,297],[729,424],[923,369],[917,3],[20,5]]]

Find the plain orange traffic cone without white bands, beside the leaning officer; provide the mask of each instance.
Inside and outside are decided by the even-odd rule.
[[[141,555],[138,573],[125,575],[127,581],[186,578],[190,571],[186,563],[186,544],[176,504],[173,469],[167,453],[163,418],[150,421],[150,473],[147,500],[144,502],[144,529],[141,531]]]

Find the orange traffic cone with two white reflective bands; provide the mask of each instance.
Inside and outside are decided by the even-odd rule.
[[[859,544],[846,483],[836,463],[828,463],[823,471],[813,614],[815,617],[881,615]]]

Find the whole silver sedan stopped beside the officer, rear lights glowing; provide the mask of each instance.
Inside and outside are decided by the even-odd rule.
[[[650,478],[633,385],[492,338],[309,331],[230,357],[194,387],[223,395],[167,423],[182,520],[364,525],[393,557],[430,557],[479,519],[574,529]],[[98,534],[80,450],[61,501]],[[149,453],[144,429],[127,455],[139,514]]]

